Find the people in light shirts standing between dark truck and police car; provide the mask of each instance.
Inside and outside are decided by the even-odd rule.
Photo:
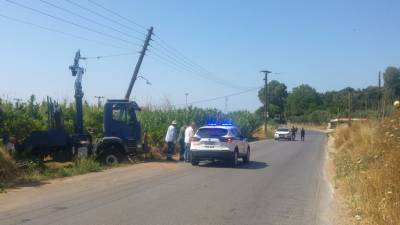
[[[165,142],[167,143],[167,160],[172,160],[175,145],[176,143],[179,143],[179,160],[185,162],[190,161],[190,143],[194,136],[195,129],[196,123],[191,122],[190,124],[184,124],[178,132],[176,121],[172,121],[171,125],[167,129],[167,134],[165,135]]]

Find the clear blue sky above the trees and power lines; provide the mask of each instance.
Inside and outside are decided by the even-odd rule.
[[[12,0],[92,29],[129,39],[121,33],[57,10],[39,0]],[[80,13],[124,33],[143,38],[126,27],[97,17],[64,0],[46,0]],[[72,0],[120,23],[144,31],[94,6],[87,0]],[[184,1],[184,0],[95,0],[145,26],[209,74],[192,73],[149,53],[132,98],[139,104],[172,104],[224,96],[262,85],[260,70],[269,69],[271,79],[288,89],[310,84],[318,91],[347,86],[376,85],[377,74],[387,66],[399,66],[399,1]],[[77,49],[83,56],[138,52],[140,47],[107,38],[87,30],[0,1],[0,14],[62,30],[87,39],[117,45],[122,49],[75,39],[58,33],[16,23],[0,17],[2,69],[0,97],[23,98],[36,94],[73,100],[74,78],[68,69]],[[157,41],[157,39],[155,39]],[[141,44],[140,41],[129,41]],[[153,43],[155,53],[162,54]],[[96,95],[122,98],[126,92],[138,54],[90,59],[82,65],[85,98]],[[199,75],[200,74],[200,75]],[[235,86],[235,88],[230,87]],[[199,104],[224,109],[224,99]],[[230,97],[228,109],[255,110],[260,107],[256,92]]]

